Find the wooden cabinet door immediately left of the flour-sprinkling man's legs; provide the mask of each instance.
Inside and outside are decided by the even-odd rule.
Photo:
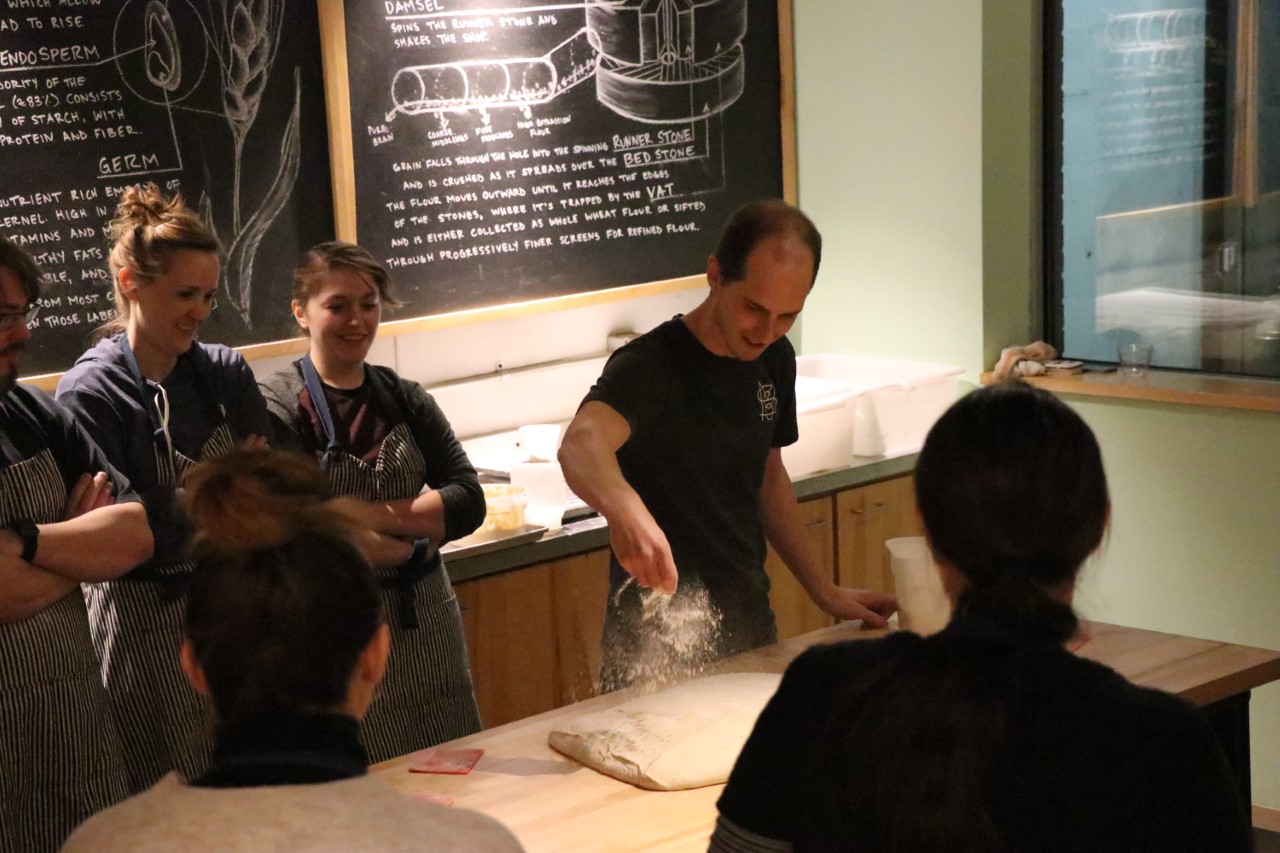
[[[600,634],[609,597],[609,552],[591,551],[549,565],[559,704],[570,704],[600,692]]]

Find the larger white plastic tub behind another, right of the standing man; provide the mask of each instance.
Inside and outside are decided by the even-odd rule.
[[[931,361],[844,353],[796,359],[801,377],[845,382],[859,393],[855,456],[895,456],[920,450],[933,421],[955,402],[964,368]]]

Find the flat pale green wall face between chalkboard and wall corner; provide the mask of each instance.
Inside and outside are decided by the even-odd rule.
[[[795,6],[800,201],[826,238],[803,348],[977,369],[980,4]]]

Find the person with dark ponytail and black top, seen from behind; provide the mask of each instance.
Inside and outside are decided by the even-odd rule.
[[[1023,383],[974,391],[929,432],[915,493],[950,624],[796,658],[710,849],[1247,853],[1201,712],[1071,653],[1110,517],[1079,415]]]

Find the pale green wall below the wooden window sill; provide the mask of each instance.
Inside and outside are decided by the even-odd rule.
[[[1102,444],[1111,533],[1076,593],[1102,621],[1280,648],[1280,419],[1071,400]],[[1251,702],[1253,802],[1280,808],[1280,683]]]

